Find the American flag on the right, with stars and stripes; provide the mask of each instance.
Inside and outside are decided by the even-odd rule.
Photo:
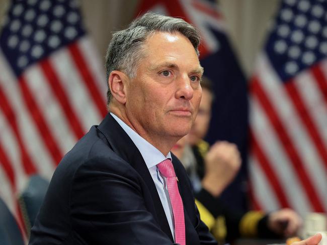
[[[327,211],[327,2],[285,0],[250,85],[255,206]]]

